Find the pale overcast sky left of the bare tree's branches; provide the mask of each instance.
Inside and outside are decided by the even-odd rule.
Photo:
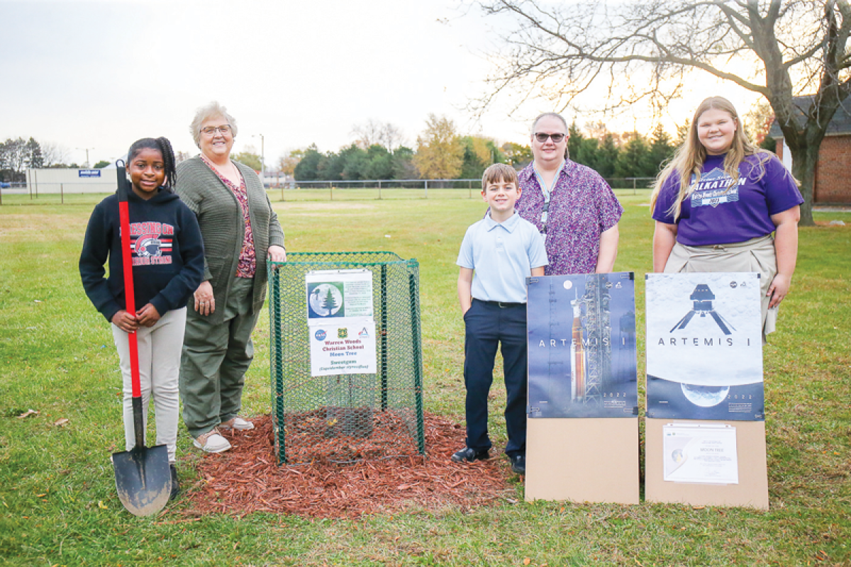
[[[509,116],[505,101],[480,121],[465,111],[485,88],[484,54],[498,50],[493,28],[509,22],[459,5],[0,0],[0,139],[60,144],[79,163],[85,148],[92,163],[112,161],[148,136],[194,155],[189,123],[216,99],[237,119],[235,150],[260,153],[262,134],[267,164],[314,143],[339,150],[368,119],[397,125],[415,147],[430,112],[460,133],[528,144],[528,122],[553,109],[533,103]],[[697,100],[705,93],[701,85]],[[683,101],[679,115],[696,104]]]

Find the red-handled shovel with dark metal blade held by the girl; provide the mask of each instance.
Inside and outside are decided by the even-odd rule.
[[[130,258],[130,217],[127,206],[129,183],[120,160],[118,170],[118,214],[121,224],[121,250],[124,264],[124,295],[127,311],[136,314],[133,293],[133,266]],[[171,494],[171,471],[166,445],[145,446],[145,421],[142,419],[142,388],[139,379],[139,346],[136,333],[128,335],[130,375],[133,382],[133,427],[136,445],[130,451],[112,453],[118,499],[135,516],[150,516],[163,509]]]

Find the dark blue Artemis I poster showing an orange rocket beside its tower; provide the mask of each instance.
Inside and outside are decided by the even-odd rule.
[[[638,415],[631,272],[528,279],[528,417]]]

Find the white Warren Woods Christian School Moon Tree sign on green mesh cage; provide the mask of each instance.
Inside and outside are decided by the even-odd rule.
[[[369,321],[330,320],[311,326],[311,376],[374,374],[375,324]]]

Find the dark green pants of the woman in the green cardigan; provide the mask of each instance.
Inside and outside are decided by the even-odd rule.
[[[254,359],[251,332],[260,311],[251,313],[254,280],[236,278],[228,297],[225,320],[210,325],[189,309],[180,360],[180,398],[183,421],[192,437],[205,434],[231,417],[243,405],[245,372]]]

